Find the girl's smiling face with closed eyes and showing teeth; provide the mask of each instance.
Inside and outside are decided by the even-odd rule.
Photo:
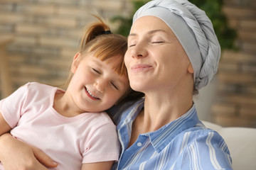
[[[93,53],[80,59],[75,55],[71,71],[73,78],[67,92],[82,112],[100,112],[112,107],[129,89],[127,77],[114,72],[114,65],[122,57],[101,61]]]

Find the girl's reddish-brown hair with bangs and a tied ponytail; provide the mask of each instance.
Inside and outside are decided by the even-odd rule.
[[[95,16],[95,15],[93,15]],[[95,16],[99,21],[85,26],[81,37],[79,52],[81,53],[78,60],[82,60],[87,54],[93,53],[95,57],[101,61],[105,61],[112,57],[118,57],[120,61],[114,66],[114,72],[119,76],[127,76],[127,69],[124,65],[124,55],[127,51],[127,38],[122,35],[110,32],[110,27],[99,16]],[[122,57],[119,57],[122,56]],[[68,86],[73,73],[70,72],[65,87]]]

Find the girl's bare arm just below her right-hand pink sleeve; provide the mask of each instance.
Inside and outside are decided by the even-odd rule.
[[[82,169],[81,170],[110,170],[112,165],[113,165],[113,161],[110,162],[95,162],[95,163],[90,163],[90,164],[82,164]]]

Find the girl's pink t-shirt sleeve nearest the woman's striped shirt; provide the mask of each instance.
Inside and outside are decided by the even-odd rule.
[[[119,140],[116,126],[107,123],[97,128],[82,153],[82,163],[117,161],[119,158]]]

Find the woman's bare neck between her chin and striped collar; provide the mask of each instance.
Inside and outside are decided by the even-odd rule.
[[[188,93],[173,93],[159,95],[146,94],[142,116],[145,132],[158,130],[181,115],[193,106],[193,96]],[[142,121],[141,120],[141,121]]]

